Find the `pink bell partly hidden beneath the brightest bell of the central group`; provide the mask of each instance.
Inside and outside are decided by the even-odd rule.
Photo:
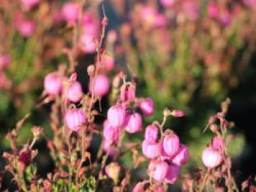
[[[108,120],[105,120],[103,123],[103,136],[105,139],[110,140],[112,142],[117,142],[120,137],[120,128],[110,126]]]

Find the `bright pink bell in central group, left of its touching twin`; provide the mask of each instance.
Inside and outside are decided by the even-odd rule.
[[[121,127],[124,125],[125,120],[125,110],[119,105],[115,105],[108,110],[108,123],[114,128]]]

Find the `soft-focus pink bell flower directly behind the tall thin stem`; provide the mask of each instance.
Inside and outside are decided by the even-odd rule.
[[[94,79],[91,82],[93,84]],[[110,89],[110,81],[107,75],[98,74],[94,82],[94,94],[95,96],[105,96]]]

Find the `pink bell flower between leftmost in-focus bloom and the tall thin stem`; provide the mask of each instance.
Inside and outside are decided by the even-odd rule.
[[[80,82],[75,81],[69,85],[68,92],[67,92],[67,99],[72,102],[78,102],[83,97],[83,89]]]

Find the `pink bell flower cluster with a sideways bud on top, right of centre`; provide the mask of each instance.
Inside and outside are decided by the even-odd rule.
[[[189,161],[188,147],[180,143],[178,136],[172,130],[167,129],[163,132],[167,116],[177,116],[177,112],[184,115],[181,110],[173,110],[173,112],[165,110],[162,124],[155,121],[146,127],[142,151],[146,158],[151,160],[148,164],[148,174],[156,182],[154,187],[150,185],[149,188],[158,188],[159,190],[159,188],[162,188],[162,183],[176,183],[179,166],[187,164],[187,161]],[[158,138],[159,132],[161,134],[160,139]],[[138,183],[134,191],[143,191],[146,183],[145,181]]]

